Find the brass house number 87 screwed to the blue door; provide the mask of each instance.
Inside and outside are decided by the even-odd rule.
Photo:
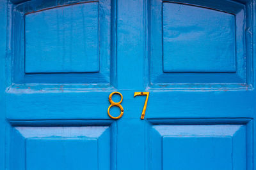
[[[119,102],[116,103],[116,102],[114,102],[114,101],[112,100],[113,94],[119,94],[119,95],[121,96],[121,99],[120,99]],[[146,109],[147,109],[147,104],[148,104],[149,92],[134,92],[134,97],[136,97],[136,96],[147,96],[147,97],[146,97],[146,100],[145,100],[145,103],[144,103],[144,107],[143,107],[142,113],[141,113],[141,117],[140,117],[141,119],[144,119],[145,113],[146,113]],[[122,101],[123,101],[123,96],[122,96],[122,94],[121,94],[120,92],[112,92],[111,94],[109,94],[108,100],[109,100],[109,103],[111,103],[110,106],[108,107],[108,115],[109,115],[109,117],[111,117],[111,118],[113,118],[113,119],[121,118],[121,117],[124,115],[124,108],[123,108],[123,106],[121,105],[121,103],[122,103]],[[118,108],[120,108],[121,113],[120,113],[120,115],[119,115],[118,117],[113,117],[113,116],[109,113],[109,110],[110,110],[110,108],[111,108],[112,106],[118,106]]]

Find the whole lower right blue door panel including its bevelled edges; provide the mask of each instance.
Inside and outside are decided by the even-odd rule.
[[[246,169],[246,125],[192,122],[151,127],[151,169]]]

